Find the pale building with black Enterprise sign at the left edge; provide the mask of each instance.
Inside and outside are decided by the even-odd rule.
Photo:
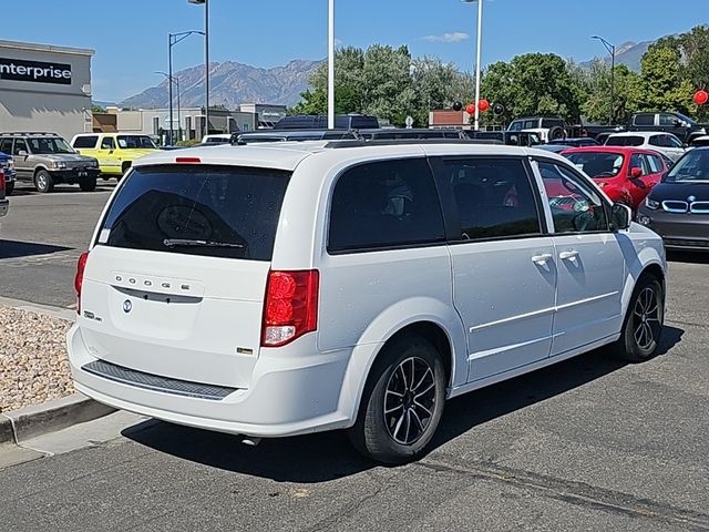
[[[93,50],[0,41],[0,132],[92,131]]]

